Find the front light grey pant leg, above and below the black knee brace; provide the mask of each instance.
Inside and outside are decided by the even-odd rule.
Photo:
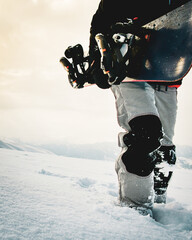
[[[118,86],[112,86],[112,91],[116,99],[118,123],[126,132],[131,130],[129,122],[138,116],[159,116],[155,105],[155,90],[149,84],[121,83]],[[122,161],[122,155],[127,150],[127,146],[122,141],[123,135],[119,135],[119,146],[122,147],[122,152],[116,161],[120,200],[130,206],[150,208],[154,199],[153,173],[142,177],[126,170]]]

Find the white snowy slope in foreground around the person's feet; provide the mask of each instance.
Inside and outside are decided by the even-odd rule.
[[[120,207],[114,162],[0,149],[1,240],[192,239],[192,161],[154,217]]]

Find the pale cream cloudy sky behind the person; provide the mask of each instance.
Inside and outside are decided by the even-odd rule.
[[[116,141],[110,90],[75,90],[59,63],[80,43],[88,51],[99,0],[0,0],[0,138],[34,143]],[[192,145],[192,71],[179,89],[176,144]]]

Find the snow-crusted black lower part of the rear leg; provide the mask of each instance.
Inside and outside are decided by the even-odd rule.
[[[176,163],[175,146],[161,146],[156,152],[154,169],[155,203],[166,203],[167,188]]]

